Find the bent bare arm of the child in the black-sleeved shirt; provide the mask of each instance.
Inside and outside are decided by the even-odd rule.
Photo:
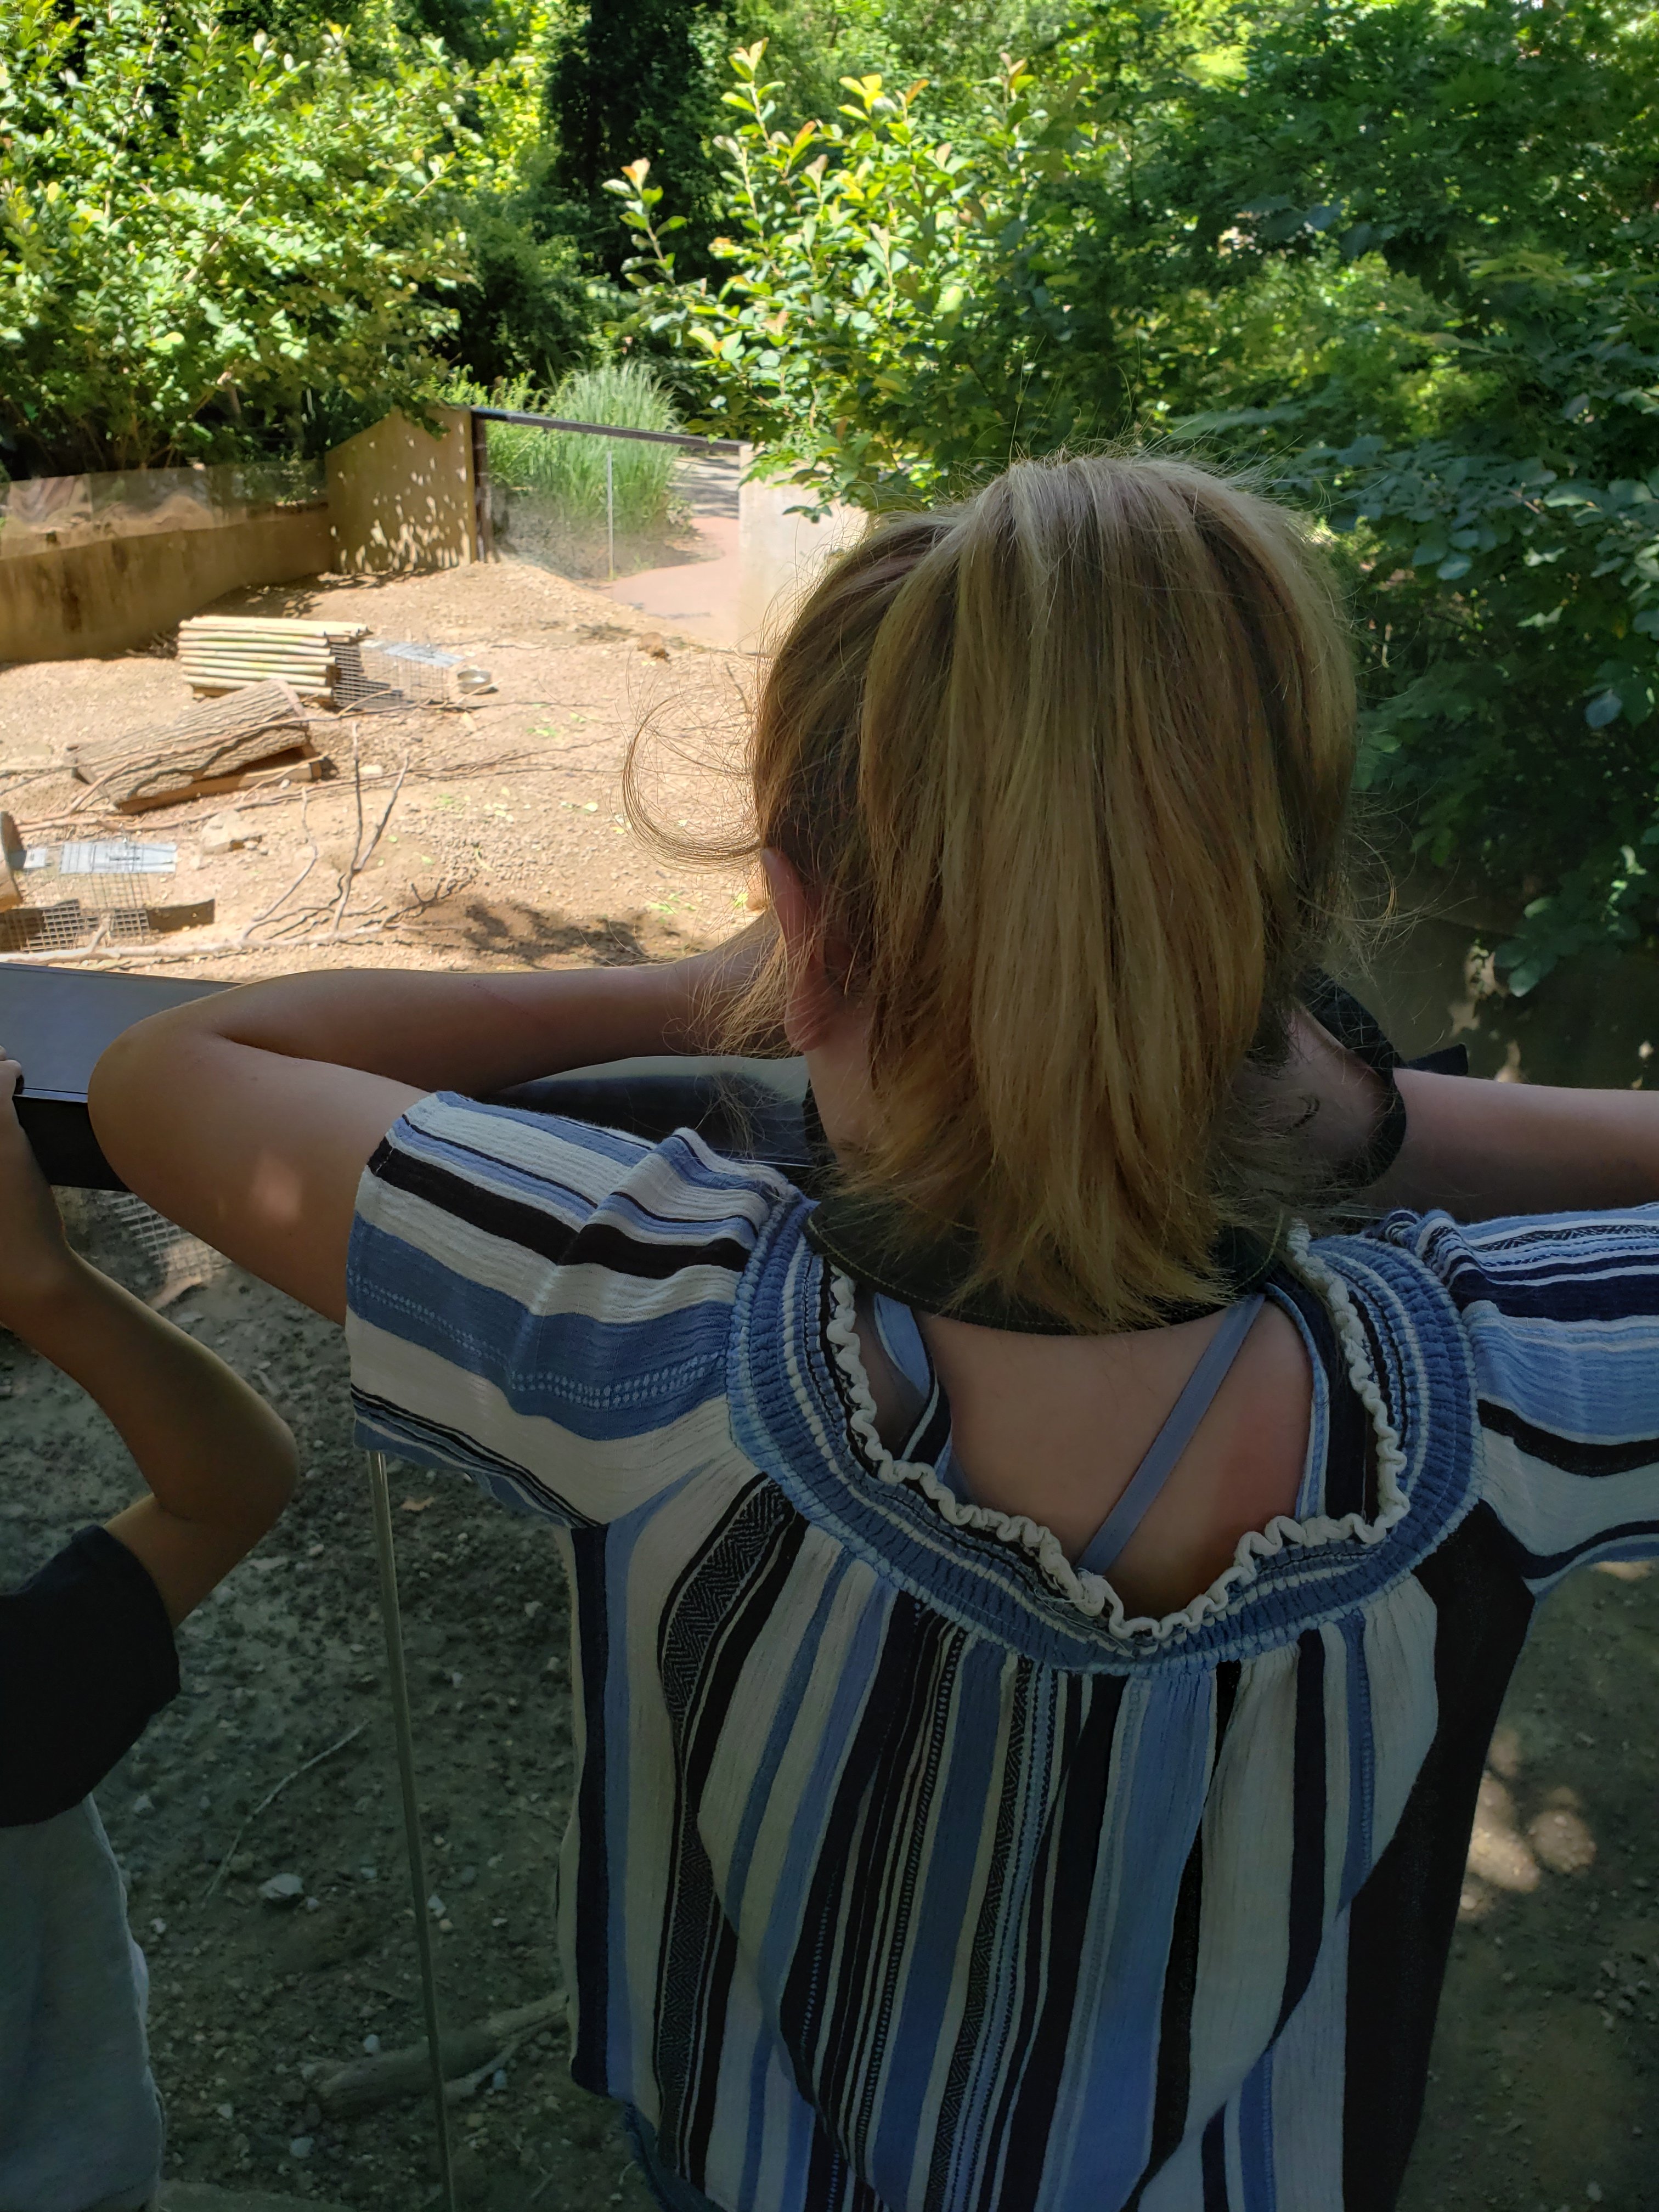
[[[288,1504],[294,1438],[223,1360],[69,1250],[11,1106],[18,1079],[0,1051],[0,1325],[119,1429],[150,1495],[106,1526],[177,1626]]]

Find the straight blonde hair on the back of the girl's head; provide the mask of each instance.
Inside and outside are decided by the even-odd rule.
[[[1223,1298],[1217,1237],[1272,1243],[1294,1181],[1237,1079],[1343,907],[1352,765],[1332,580],[1237,482],[1022,462],[874,524],[772,659],[726,847],[849,949],[880,1110],[845,1183],[1073,1327]]]

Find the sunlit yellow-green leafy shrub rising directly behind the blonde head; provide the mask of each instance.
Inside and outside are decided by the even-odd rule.
[[[1066,338],[1026,243],[1031,192],[1077,135],[1066,97],[1009,64],[975,142],[953,146],[922,126],[918,91],[867,75],[847,80],[836,122],[783,131],[763,51],[732,55],[741,122],[717,142],[739,226],[712,241],[726,283],[677,279],[684,219],[659,215],[648,161],[611,184],[641,248],[626,263],[633,327],[699,356],[708,425],[768,445],[823,498],[918,498],[995,465],[1048,374],[1042,338]],[[1031,343],[1011,345],[1011,327]]]

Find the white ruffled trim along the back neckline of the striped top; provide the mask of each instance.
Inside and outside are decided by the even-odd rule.
[[[1409,1498],[1400,1489],[1400,1471],[1405,1469],[1400,1436],[1389,1422],[1383,1391],[1371,1374],[1365,1327],[1360,1316],[1354,1312],[1347,1285],[1325,1265],[1325,1261],[1314,1259],[1307,1228],[1301,1221],[1290,1232],[1287,1256],[1292,1270],[1329,1307],[1329,1316],[1336,1325],[1336,1336],[1347,1360],[1349,1380],[1354,1383],[1360,1405],[1371,1416],[1371,1427],[1376,1431],[1378,1513],[1376,1520],[1365,1520],[1363,1513],[1345,1513],[1340,1520],[1329,1520],[1323,1513],[1316,1513],[1310,1520],[1292,1520],[1287,1513],[1276,1513],[1265,1528],[1250,1528],[1239,1537],[1232,1566],[1225,1568],[1225,1573],[1221,1573],[1208,1590],[1194,1597],[1179,1613],[1166,1613],[1161,1619],[1152,1619],[1148,1613],[1126,1613],[1124,1599],[1104,1575],[1079,1573],[1071,1564],[1053,1528],[1044,1528],[1042,1522],[1033,1522],[1026,1513],[1000,1513],[995,1506],[967,1504],[956,1498],[925,1462],[896,1460],[876,1433],[876,1400],[869,1391],[869,1378],[858,1349],[858,1312],[852,1276],[832,1270],[830,1290],[834,1298],[834,1314],[830,1316],[825,1336],[830,1338],[836,1365],[847,1380],[852,1431],[869,1458],[878,1482],[907,1482],[911,1489],[918,1489],[953,1528],[980,1528],[1004,1544],[1015,1544],[1037,1562],[1048,1582],[1053,1582],[1053,1586],[1071,1599],[1082,1615],[1091,1621],[1099,1621],[1104,1617],[1108,1635],[1119,1641],[1126,1644],[1133,1637],[1146,1637],[1152,1644],[1166,1644],[1170,1637],[1190,1628],[1201,1628],[1203,1621],[1225,1610],[1234,1595],[1256,1579],[1261,1562],[1279,1557],[1287,1544],[1298,1544],[1303,1551],[1318,1551],[1323,1544],[1340,1544],[1349,1537],[1360,1544],[1380,1544],[1389,1528],[1398,1526],[1409,1509]]]

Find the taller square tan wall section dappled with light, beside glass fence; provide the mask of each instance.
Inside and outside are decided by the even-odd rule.
[[[327,456],[334,568],[394,575],[476,557],[473,442],[467,407],[438,407],[440,438],[389,414]]]

